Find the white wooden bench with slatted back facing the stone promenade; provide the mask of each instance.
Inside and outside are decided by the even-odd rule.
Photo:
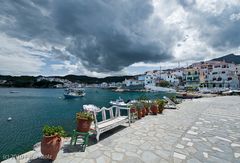
[[[130,108],[127,107],[119,107],[119,106],[112,106],[110,108],[97,108],[94,106],[94,108],[91,108],[90,106],[93,105],[84,105],[83,108],[86,111],[92,112],[94,116],[94,128],[96,131],[96,139],[99,141],[99,137],[102,133],[109,131],[117,126],[123,125],[125,123],[129,123],[130,126]],[[115,109],[115,116],[114,116],[114,110]],[[121,110],[127,110],[128,115],[122,116]],[[109,112],[110,117],[107,118],[107,112]],[[97,115],[101,114],[102,121],[98,121]]]

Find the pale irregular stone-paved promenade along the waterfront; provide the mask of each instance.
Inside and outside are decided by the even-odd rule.
[[[56,163],[240,162],[240,97],[225,96],[184,101],[178,110],[149,115],[118,128],[85,152],[71,148],[69,139]],[[39,147],[18,157],[37,159]],[[4,163],[17,162],[9,159]]]

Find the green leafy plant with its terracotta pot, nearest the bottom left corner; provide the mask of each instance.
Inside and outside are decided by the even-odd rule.
[[[44,126],[41,141],[41,153],[46,159],[55,160],[61,147],[65,131],[61,126]]]

